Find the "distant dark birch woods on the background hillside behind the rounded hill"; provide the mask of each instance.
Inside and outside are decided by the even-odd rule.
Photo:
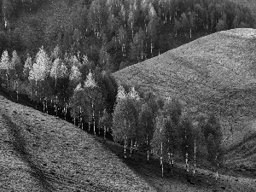
[[[3,0],[5,18],[23,7],[37,7],[40,1]],[[43,1],[45,2],[45,1]],[[73,4],[66,26],[45,32],[50,52],[56,44],[62,55],[87,55],[103,70],[144,61],[203,35],[236,27],[253,27],[249,9],[228,0],[80,0]],[[22,8],[22,6],[21,6]],[[8,26],[7,26],[8,27]],[[18,28],[0,33],[0,49],[32,53],[20,38]],[[46,43],[45,43],[46,44]],[[35,44],[33,46],[41,46]],[[63,59],[63,57],[62,57]]]

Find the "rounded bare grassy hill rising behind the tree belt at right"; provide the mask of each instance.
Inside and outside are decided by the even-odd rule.
[[[255,129],[256,30],[236,29],[199,38],[114,77],[160,96],[177,96],[197,113],[213,112],[224,125],[225,146]]]

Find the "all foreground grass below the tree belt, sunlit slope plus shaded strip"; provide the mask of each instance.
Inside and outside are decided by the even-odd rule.
[[[124,159],[118,143],[101,144],[101,137],[3,96],[0,104],[1,191],[255,191],[253,178],[223,169],[216,183],[214,173],[199,165],[188,182],[177,158],[174,175],[165,164],[160,177],[159,159],[148,164],[141,152]]]

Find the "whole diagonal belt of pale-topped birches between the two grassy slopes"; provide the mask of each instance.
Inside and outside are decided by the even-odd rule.
[[[95,135],[98,130],[104,137],[110,132],[114,141],[124,143],[125,157],[128,146],[131,152],[146,148],[148,160],[149,154],[157,154],[162,176],[164,161],[172,168],[177,156],[183,157],[188,173],[189,167],[195,173],[199,160],[209,160],[217,168],[221,164],[222,132],[213,114],[192,117],[177,99],[118,85],[86,56],[82,62],[75,55],[63,57],[59,47],[51,55],[41,48],[34,58],[28,55],[23,66],[16,51],[9,56],[5,50],[0,85],[15,90],[17,100],[22,92],[37,105],[43,104],[44,113],[54,106],[56,115],[66,117],[70,108],[73,123],[81,129],[93,127]]]

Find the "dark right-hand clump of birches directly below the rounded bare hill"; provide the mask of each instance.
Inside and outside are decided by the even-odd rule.
[[[183,157],[187,173],[193,170],[193,175],[198,162],[208,160],[216,168],[218,177],[223,159],[222,132],[213,114],[192,117],[175,98],[162,99],[151,92],[139,96],[133,88],[126,92],[119,85],[112,115],[113,138],[125,143],[125,157],[128,145],[131,151],[138,146],[147,148],[148,160],[149,154],[160,157],[162,177],[164,162],[168,162],[172,170],[178,156]]]

